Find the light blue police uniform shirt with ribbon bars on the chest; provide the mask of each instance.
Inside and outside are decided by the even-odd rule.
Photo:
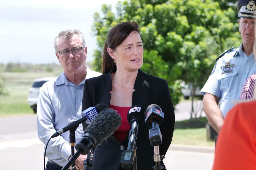
[[[227,112],[239,101],[246,79],[256,73],[253,53],[247,57],[239,48],[221,57],[203,86],[201,93],[210,93],[220,98],[219,109],[225,118]]]

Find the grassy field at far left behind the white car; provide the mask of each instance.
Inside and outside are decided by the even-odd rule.
[[[28,105],[29,88],[35,78],[56,77],[55,72],[2,72],[8,95],[0,95],[0,117],[34,114]]]

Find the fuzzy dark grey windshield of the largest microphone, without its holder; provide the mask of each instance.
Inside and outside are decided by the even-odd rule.
[[[85,133],[89,132],[96,137],[97,142],[94,146],[100,145],[103,140],[118,129],[121,125],[121,119],[121,116],[114,109],[103,109],[86,127]]]

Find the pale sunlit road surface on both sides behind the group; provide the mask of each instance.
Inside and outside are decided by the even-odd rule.
[[[190,118],[189,106],[189,101],[177,106],[177,120]],[[36,114],[1,118],[0,129],[0,165],[3,169],[43,170],[44,145],[37,138]],[[211,170],[213,160],[213,147],[171,144],[164,163],[167,170]]]

